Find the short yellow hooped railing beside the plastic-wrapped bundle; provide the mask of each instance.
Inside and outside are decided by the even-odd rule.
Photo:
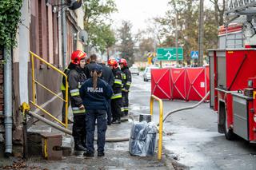
[[[150,115],[153,115],[153,104],[154,100],[157,100],[159,103],[159,140],[158,140],[158,160],[162,160],[162,119],[163,119],[163,110],[162,110],[162,100],[154,95],[150,97]]]

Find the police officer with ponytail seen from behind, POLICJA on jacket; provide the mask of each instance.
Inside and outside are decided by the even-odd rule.
[[[108,100],[113,91],[101,78],[102,66],[93,65],[89,78],[84,82],[80,89],[83,104],[86,106],[86,132],[87,132],[87,151],[84,156],[94,156],[94,129],[97,120],[98,132],[98,156],[104,156],[104,146],[106,139],[106,110]]]

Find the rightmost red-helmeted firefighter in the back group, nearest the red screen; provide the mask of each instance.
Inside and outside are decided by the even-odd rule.
[[[130,69],[127,65],[127,61],[124,58],[121,58],[119,60],[119,65],[122,70],[122,82],[123,82],[123,87],[122,87],[122,104],[123,104],[123,109],[124,109],[124,116],[128,115],[129,112],[129,89],[130,89],[130,83],[131,83],[131,73]]]

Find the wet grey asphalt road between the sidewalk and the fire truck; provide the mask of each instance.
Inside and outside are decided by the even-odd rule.
[[[130,92],[132,112],[150,113],[149,82],[133,76]],[[164,101],[164,113],[196,102]],[[158,122],[158,105],[154,104]],[[196,109],[174,113],[164,124],[163,145],[169,156],[190,169],[256,169],[256,145],[238,138],[226,140],[217,130],[217,113],[205,103]]]

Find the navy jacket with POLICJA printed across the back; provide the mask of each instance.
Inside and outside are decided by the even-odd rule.
[[[82,98],[82,104],[86,109],[100,109],[107,110],[109,108],[109,99],[113,94],[113,90],[110,85],[98,78],[97,88],[93,87],[93,79],[89,78],[84,81],[80,88],[80,97]]]

